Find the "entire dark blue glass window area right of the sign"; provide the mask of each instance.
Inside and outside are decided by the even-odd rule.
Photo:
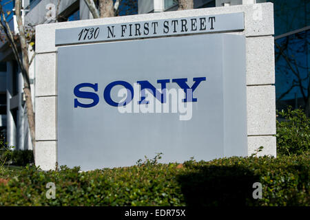
[[[276,108],[305,107],[309,102],[310,1],[273,3],[276,61]]]

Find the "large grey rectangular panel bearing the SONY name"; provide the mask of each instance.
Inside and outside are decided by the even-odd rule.
[[[59,165],[245,156],[245,36],[59,47],[57,115]]]

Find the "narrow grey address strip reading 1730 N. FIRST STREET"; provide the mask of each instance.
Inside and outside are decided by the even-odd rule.
[[[180,34],[242,31],[245,29],[244,23],[244,14],[242,12],[59,29],[56,30],[55,45],[122,41]]]

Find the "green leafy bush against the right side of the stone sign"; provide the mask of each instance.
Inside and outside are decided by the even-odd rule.
[[[309,151],[310,118],[307,118],[304,111],[289,107],[287,111],[277,111],[277,114],[278,155],[304,154]]]

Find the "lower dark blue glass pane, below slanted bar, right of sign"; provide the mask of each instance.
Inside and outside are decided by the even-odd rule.
[[[277,109],[304,107],[309,89],[310,31],[275,41]]]

